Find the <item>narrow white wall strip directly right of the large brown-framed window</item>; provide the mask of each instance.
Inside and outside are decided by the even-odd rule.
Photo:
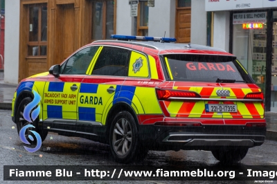
[[[116,35],[132,35],[129,0],[116,1]]]

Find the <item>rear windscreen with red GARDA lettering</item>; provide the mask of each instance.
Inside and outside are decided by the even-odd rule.
[[[170,80],[186,82],[253,83],[235,57],[218,55],[164,55]],[[168,75],[165,73],[165,75]]]

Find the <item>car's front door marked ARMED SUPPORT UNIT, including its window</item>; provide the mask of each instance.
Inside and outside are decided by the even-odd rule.
[[[60,77],[51,77],[44,88],[44,117],[51,129],[75,132],[80,84],[91,67],[99,46],[71,55],[61,66]]]

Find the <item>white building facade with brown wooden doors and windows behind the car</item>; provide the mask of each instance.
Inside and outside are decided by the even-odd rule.
[[[195,0],[201,1],[201,0]],[[154,3],[153,3],[154,2]],[[177,37],[190,42],[191,0],[6,1],[4,81],[17,84],[60,64],[74,50],[111,34]]]

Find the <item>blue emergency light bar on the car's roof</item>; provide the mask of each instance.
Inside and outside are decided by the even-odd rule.
[[[127,36],[127,35],[111,35],[111,38],[130,41],[130,40],[141,40],[141,41],[154,41],[154,42],[177,42],[176,38],[172,37],[142,37],[142,36]]]

